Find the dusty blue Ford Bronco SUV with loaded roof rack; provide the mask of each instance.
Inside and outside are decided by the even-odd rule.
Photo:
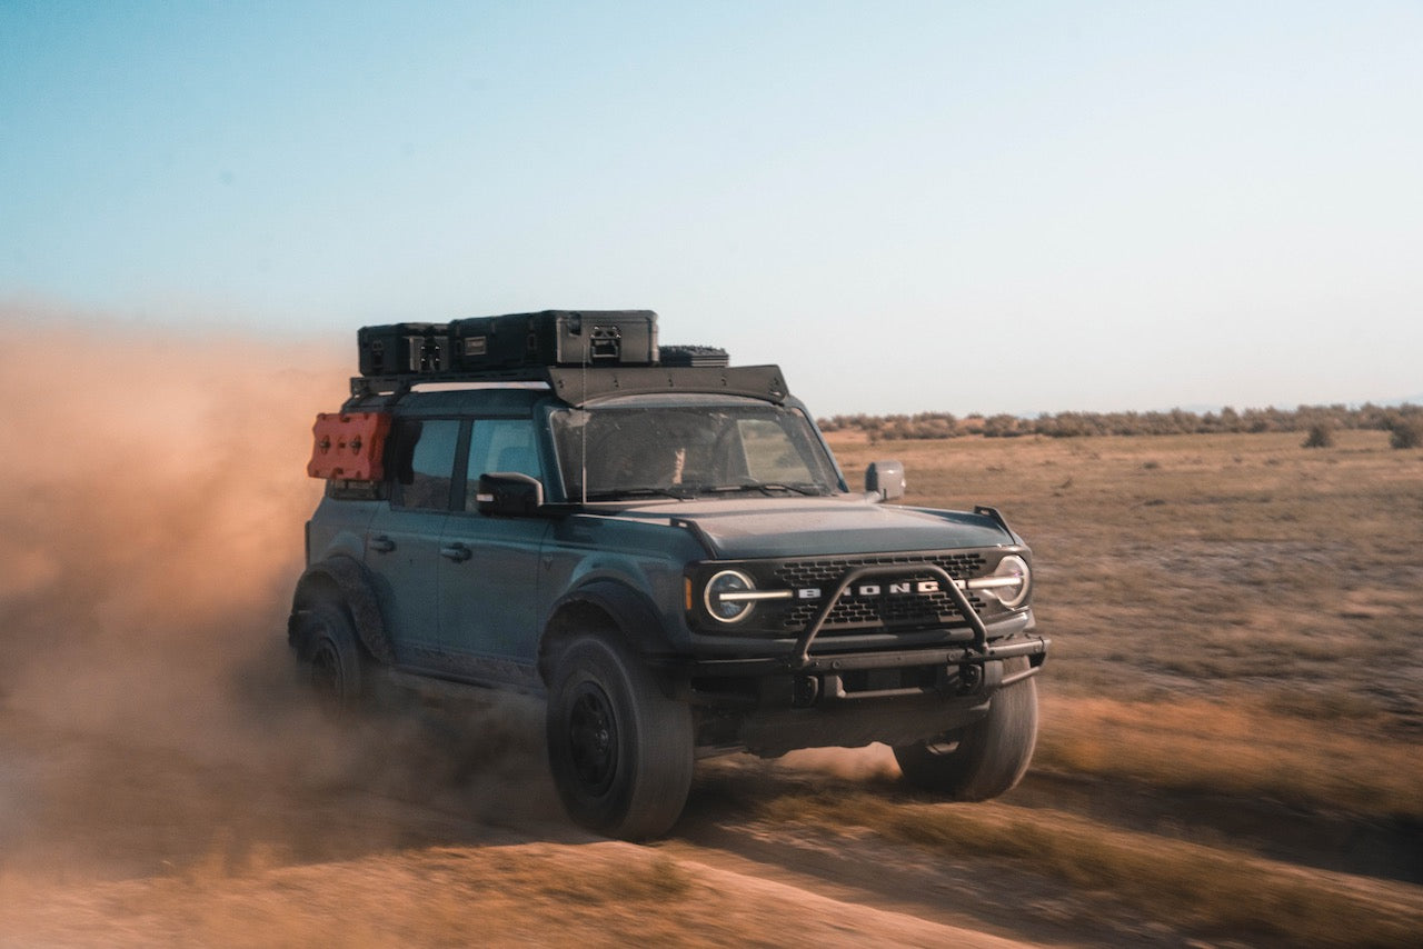
[[[660,347],[646,310],[366,327],[317,417],[289,640],[350,706],[425,679],[546,703],[569,815],[645,839],[700,757],[894,748],[985,800],[1037,734],[1032,553],[993,508],[852,491],[776,366]]]

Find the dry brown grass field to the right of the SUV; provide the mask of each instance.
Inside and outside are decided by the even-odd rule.
[[[835,442],[993,504],[1054,649],[1039,763],[1423,818],[1423,452],[1386,433]]]

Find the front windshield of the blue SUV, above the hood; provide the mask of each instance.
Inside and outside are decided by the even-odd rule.
[[[569,499],[841,489],[834,462],[794,408],[750,400],[629,403],[554,413]]]

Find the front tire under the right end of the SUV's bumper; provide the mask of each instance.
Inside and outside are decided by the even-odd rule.
[[[1003,672],[1026,660],[1003,663]],[[894,757],[909,784],[955,801],[986,801],[1010,791],[1027,773],[1037,744],[1037,683],[1025,679],[999,690],[988,716],[953,731],[898,746]]]

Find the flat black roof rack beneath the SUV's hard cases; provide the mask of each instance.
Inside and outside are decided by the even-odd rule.
[[[545,383],[569,405],[583,405],[610,396],[657,393],[710,393],[746,396],[781,404],[790,396],[780,366],[522,366],[447,373],[354,376],[347,407],[386,396],[398,401],[416,386],[428,383]]]

